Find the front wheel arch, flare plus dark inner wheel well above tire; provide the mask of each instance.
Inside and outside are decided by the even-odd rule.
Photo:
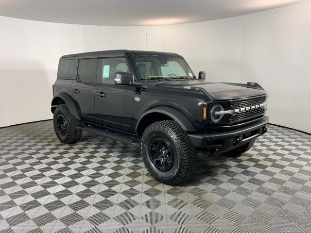
[[[158,107],[155,107],[153,109],[146,111],[139,117],[138,122],[135,127],[136,133],[138,133],[138,135],[141,135],[143,133],[143,130],[148,127],[148,125],[147,126],[143,125],[145,122],[154,123],[158,121],[158,120],[146,120],[146,119],[152,116],[159,116],[159,115],[164,116],[163,118],[159,118],[159,120],[167,120],[167,119],[174,120],[181,126],[181,128],[184,131],[188,131],[188,132],[196,131],[190,119],[185,114],[180,112],[179,110],[174,109],[172,107],[167,107],[167,106],[158,106]]]

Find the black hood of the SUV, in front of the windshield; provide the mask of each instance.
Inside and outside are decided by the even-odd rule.
[[[266,92],[259,86],[242,83],[213,83],[203,80],[175,80],[158,83],[157,85],[198,89],[207,94],[212,100],[233,100],[266,94]]]

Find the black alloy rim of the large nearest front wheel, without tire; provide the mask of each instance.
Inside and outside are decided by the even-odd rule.
[[[155,137],[149,143],[149,157],[152,164],[160,171],[168,171],[174,164],[174,154],[169,142]]]

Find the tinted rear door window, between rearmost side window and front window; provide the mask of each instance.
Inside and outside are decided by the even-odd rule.
[[[96,83],[98,59],[79,60],[77,80],[82,83]]]

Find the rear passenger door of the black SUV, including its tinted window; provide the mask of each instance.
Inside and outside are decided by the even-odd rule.
[[[93,121],[94,91],[96,86],[96,74],[98,59],[79,59],[77,78],[71,85],[70,94],[80,108],[81,118]]]

